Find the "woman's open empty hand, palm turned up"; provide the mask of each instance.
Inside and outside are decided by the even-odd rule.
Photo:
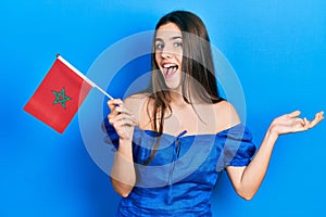
[[[313,120],[308,120],[305,117],[298,117],[301,114],[300,111],[294,111],[290,114],[285,114],[275,118],[271,125],[271,132],[279,135],[285,135],[289,132],[304,131],[316,126],[319,122],[324,119],[324,112],[318,112]]]

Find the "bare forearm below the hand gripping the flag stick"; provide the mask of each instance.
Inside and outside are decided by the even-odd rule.
[[[112,186],[124,197],[130,193],[136,182],[131,149],[131,141],[120,140],[120,148],[111,169]]]

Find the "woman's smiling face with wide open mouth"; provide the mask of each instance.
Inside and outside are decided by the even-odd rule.
[[[154,41],[155,61],[166,86],[180,90],[183,65],[183,35],[174,23],[162,25],[156,30]]]

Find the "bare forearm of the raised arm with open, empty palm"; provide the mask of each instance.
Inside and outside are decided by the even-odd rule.
[[[251,163],[244,168],[239,184],[239,194],[249,200],[259,190],[269,164],[274,144],[278,136],[274,133],[271,128],[267,130],[264,140],[251,161]]]

